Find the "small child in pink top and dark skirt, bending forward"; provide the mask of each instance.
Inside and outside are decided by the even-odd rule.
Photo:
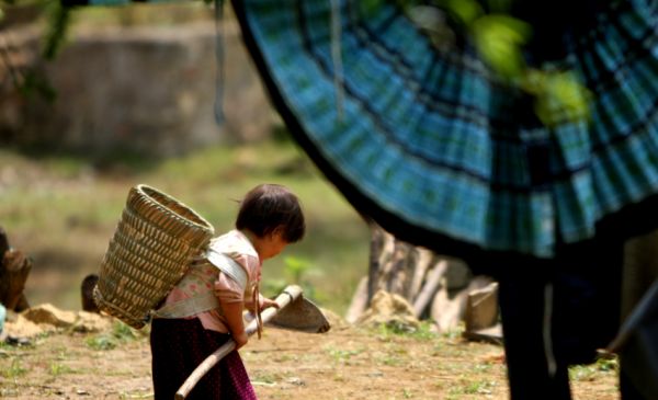
[[[300,240],[305,222],[293,193],[262,184],[242,199],[235,227],[211,241],[156,311],[150,333],[156,400],[173,399],[194,368],[230,339],[236,351],[211,369],[188,399],[256,399],[237,352],[248,341],[242,310],[258,315],[276,306],[258,293],[261,264]]]

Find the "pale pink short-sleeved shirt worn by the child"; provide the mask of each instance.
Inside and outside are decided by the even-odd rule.
[[[205,258],[200,258],[192,262],[190,270],[169,293],[164,304],[172,304],[206,292],[214,292],[220,302],[243,302],[246,307],[251,308],[251,293],[260,282],[262,263],[247,236],[234,229],[211,240],[209,247],[230,256],[245,268],[249,281],[246,289],[242,290],[236,281],[220,272]],[[229,332],[220,309],[186,317],[186,319],[191,318],[198,318],[205,329],[222,333]]]

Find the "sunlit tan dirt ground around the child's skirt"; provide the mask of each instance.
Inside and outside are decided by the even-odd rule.
[[[27,345],[2,343],[0,398],[152,399],[146,331],[59,330]],[[268,327],[240,354],[260,399],[508,397],[502,348],[458,334],[396,334],[347,324],[309,334]],[[574,368],[574,398],[617,400],[614,364]]]

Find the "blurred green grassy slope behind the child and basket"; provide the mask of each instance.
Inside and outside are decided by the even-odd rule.
[[[263,265],[268,296],[298,279],[309,297],[343,313],[359,278],[367,273],[366,225],[286,140],[213,147],[161,161],[126,157],[102,163],[82,156],[4,149],[0,165],[0,226],[10,243],[34,261],[25,289],[33,305],[81,307],[80,283],[98,272],[128,190],[137,183],[182,201],[218,233],[231,229],[236,201],[249,188],[262,182],[291,187],[303,202],[307,236]]]

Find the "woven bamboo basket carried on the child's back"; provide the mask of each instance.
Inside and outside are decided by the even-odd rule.
[[[213,233],[211,224],[175,198],[144,184],[132,187],[101,262],[97,305],[143,328]]]

